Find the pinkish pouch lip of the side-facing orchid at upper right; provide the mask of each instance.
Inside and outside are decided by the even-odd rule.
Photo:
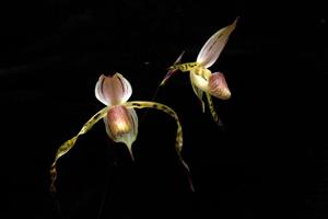
[[[211,95],[221,100],[231,97],[231,92],[222,72],[215,72],[210,76],[208,91]]]

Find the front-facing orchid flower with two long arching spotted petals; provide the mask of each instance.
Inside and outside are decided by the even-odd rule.
[[[78,135],[66,141],[57,150],[55,161],[50,168],[51,186],[50,191],[55,192],[55,181],[57,178],[56,164],[60,157],[69,152],[75,145],[79,136],[86,134],[99,119],[104,119],[105,128],[108,137],[115,142],[122,142],[129,149],[132,160],[132,143],[137,139],[138,135],[138,116],[134,108],[156,108],[167,113],[172,116],[177,124],[177,134],[175,148],[178,153],[178,158],[187,171],[189,177],[189,168],[181,158],[183,149],[183,129],[177,114],[168,106],[145,101],[131,101],[128,102],[132,94],[132,88],[129,81],[120,73],[106,77],[102,74],[95,85],[96,99],[106,106],[92,116],[81,128]],[[194,189],[191,180],[189,177],[191,189]]]

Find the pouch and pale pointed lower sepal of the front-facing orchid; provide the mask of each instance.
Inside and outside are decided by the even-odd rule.
[[[138,136],[138,115],[136,111],[124,105],[113,106],[104,122],[109,138],[115,142],[125,143],[133,159],[132,143]]]

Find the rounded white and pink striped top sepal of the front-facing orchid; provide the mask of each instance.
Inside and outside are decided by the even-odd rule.
[[[96,99],[105,105],[119,105],[129,100],[132,94],[130,82],[120,73],[102,74],[95,87]]]

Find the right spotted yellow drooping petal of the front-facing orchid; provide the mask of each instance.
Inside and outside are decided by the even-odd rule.
[[[160,111],[163,111],[164,113],[167,113],[169,116],[172,116],[177,125],[177,132],[176,132],[176,141],[175,141],[175,149],[177,151],[178,158],[183,164],[183,166],[185,168],[186,174],[188,176],[188,181],[189,181],[189,185],[190,185],[190,189],[194,192],[194,184],[191,181],[191,176],[190,176],[190,171],[189,171],[189,166],[187,165],[187,163],[184,161],[183,155],[181,155],[181,150],[183,150],[183,127],[180,125],[179,118],[177,116],[177,114],[175,113],[174,110],[172,110],[171,107],[161,104],[161,103],[155,103],[155,102],[145,102],[145,101],[131,101],[131,102],[127,102],[125,104],[125,106],[127,108],[156,108]]]

